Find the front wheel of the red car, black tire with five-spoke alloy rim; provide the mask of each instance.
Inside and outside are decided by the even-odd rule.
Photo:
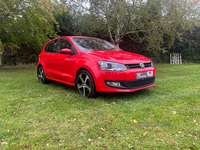
[[[84,97],[92,98],[97,94],[92,75],[87,70],[81,70],[77,74],[75,88]]]

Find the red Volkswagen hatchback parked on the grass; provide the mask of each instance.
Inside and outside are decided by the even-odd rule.
[[[98,38],[65,36],[49,41],[37,64],[40,83],[75,86],[85,97],[97,92],[133,92],[155,86],[150,59]]]

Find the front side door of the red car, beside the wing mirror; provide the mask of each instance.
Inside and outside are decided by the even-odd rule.
[[[72,54],[61,54],[60,50],[68,48],[72,50]],[[59,39],[58,53],[56,57],[56,69],[59,73],[59,80],[68,83],[70,85],[74,84],[73,73],[75,72],[75,64],[77,61],[76,50],[73,45],[66,39]]]

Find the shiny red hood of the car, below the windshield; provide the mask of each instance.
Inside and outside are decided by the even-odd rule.
[[[88,59],[113,61],[123,64],[150,62],[151,60],[139,54],[126,51],[85,51]]]

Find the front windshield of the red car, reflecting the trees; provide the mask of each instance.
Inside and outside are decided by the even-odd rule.
[[[112,44],[96,38],[72,38],[81,51],[119,50]]]

